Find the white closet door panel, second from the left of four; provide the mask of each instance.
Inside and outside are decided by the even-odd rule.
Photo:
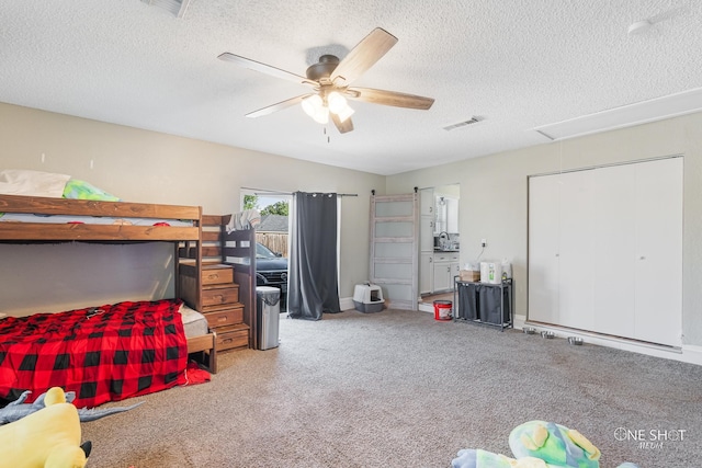
[[[591,171],[561,174],[559,323],[592,330],[596,255]]]

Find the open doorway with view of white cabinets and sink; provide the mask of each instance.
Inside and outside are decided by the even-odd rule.
[[[452,300],[461,270],[458,204],[461,185],[420,191],[419,310],[433,311],[434,300]]]

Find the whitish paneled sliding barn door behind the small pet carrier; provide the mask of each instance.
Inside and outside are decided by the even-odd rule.
[[[370,281],[395,309],[417,310],[419,297],[418,195],[371,197]]]

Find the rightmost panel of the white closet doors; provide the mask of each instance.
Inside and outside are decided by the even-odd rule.
[[[636,164],[634,338],[682,344],[682,158]]]

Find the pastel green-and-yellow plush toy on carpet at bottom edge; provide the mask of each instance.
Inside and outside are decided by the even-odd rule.
[[[514,458],[482,449],[460,450],[453,468],[599,468],[600,450],[578,431],[545,421],[529,421],[512,430]],[[619,468],[637,468],[625,463]]]

